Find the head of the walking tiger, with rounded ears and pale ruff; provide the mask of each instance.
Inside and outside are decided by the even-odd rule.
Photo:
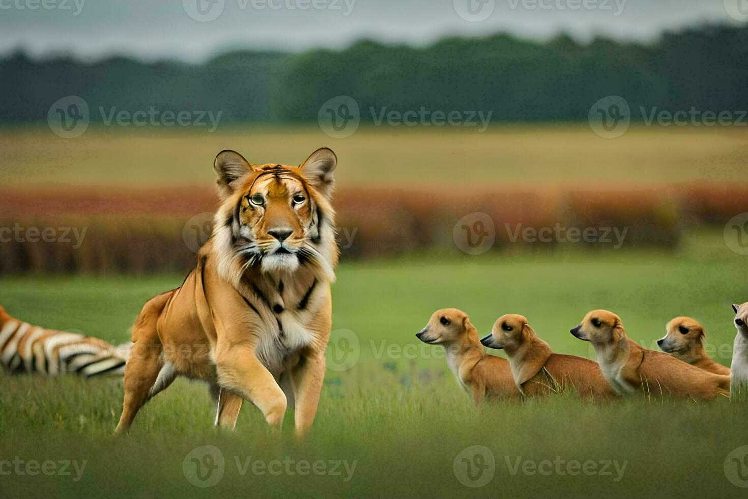
[[[219,272],[237,284],[244,272],[291,274],[315,267],[334,281],[337,243],[330,200],[337,156],[322,147],[298,167],[254,165],[239,153],[215,157],[221,207],[214,236]]]

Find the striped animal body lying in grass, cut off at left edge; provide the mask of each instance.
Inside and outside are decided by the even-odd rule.
[[[128,345],[70,331],[54,331],[13,319],[0,307],[0,363],[10,374],[122,376]]]

